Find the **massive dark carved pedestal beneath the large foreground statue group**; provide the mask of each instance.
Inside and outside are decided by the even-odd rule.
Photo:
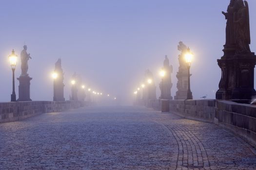
[[[217,62],[221,68],[221,79],[216,99],[251,99],[256,95],[254,89],[256,55],[253,52],[229,58],[222,57]]]

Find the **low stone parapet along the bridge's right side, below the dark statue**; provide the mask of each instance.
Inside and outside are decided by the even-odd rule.
[[[215,123],[256,146],[256,105],[217,100],[170,100],[170,112]]]

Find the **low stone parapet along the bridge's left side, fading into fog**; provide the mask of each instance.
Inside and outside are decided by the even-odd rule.
[[[0,123],[29,118],[41,113],[60,112],[84,106],[84,102],[64,101],[31,101],[31,102],[2,102],[0,103]]]

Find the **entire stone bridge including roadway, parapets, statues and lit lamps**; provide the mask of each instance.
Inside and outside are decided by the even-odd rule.
[[[255,170],[256,56],[249,47],[248,3],[231,0],[222,13],[226,43],[217,60],[222,73],[214,100],[193,100],[193,50],[183,42],[178,44],[176,95],[171,96],[173,67],[165,56],[159,99],[147,69],[133,106],[97,106],[92,96],[102,93],[81,85],[76,73],[65,101],[60,59],[53,101],[32,101],[26,45],[16,100],[12,51],[11,102],[0,103],[0,170]]]

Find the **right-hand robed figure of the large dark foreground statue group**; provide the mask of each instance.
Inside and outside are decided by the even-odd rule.
[[[236,0],[235,9],[234,24],[236,53],[248,53],[251,52],[249,47],[251,38],[248,2],[246,0]]]

